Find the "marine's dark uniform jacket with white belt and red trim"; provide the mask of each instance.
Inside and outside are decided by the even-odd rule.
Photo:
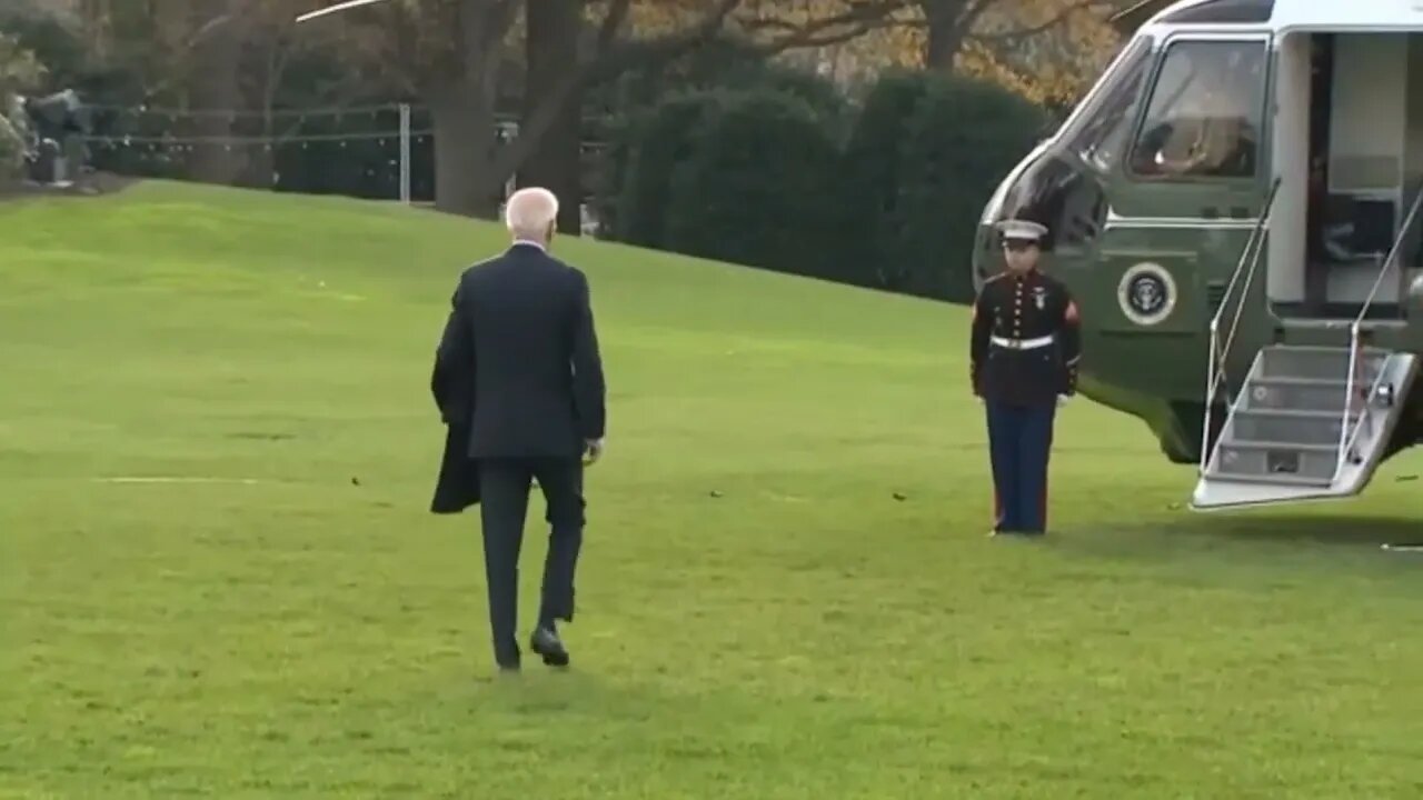
[[[1049,336],[1052,344],[1030,346]],[[1039,406],[1077,391],[1077,303],[1060,280],[1037,269],[983,285],[973,303],[969,347],[973,393],[985,400]]]

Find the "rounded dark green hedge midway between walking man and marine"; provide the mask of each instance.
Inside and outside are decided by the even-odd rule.
[[[844,214],[840,151],[804,98],[717,94],[672,177],[667,245],[677,252],[825,276]]]

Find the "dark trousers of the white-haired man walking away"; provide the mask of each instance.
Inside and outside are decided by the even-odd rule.
[[[538,480],[552,527],[544,559],[539,625],[573,619],[573,572],[583,542],[583,464],[579,458],[484,458],[480,517],[490,591],[490,631],[498,663],[518,662],[519,549],[528,517],[529,483]]]

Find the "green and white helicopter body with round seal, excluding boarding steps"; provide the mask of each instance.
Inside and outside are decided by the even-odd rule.
[[[1212,352],[1237,386],[1262,347],[1356,329],[1423,353],[1423,11],[1325,6],[1165,7],[983,209],[975,282],[1002,269],[996,222],[1046,225],[1043,268],[1081,307],[1081,391],[1177,463],[1224,421]],[[1385,457],[1423,441],[1423,391],[1400,401]]]

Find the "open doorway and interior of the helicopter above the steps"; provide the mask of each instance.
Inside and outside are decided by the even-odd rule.
[[[1272,306],[1353,319],[1368,302],[1366,317],[1400,319],[1423,275],[1423,214],[1407,219],[1423,191],[1423,34],[1292,33],[1276,70]]]

